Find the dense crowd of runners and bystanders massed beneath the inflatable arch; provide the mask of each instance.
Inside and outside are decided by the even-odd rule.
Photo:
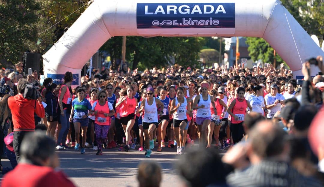
[[[323,69],[322,59],[316,60]],[[150,158],[154,151],[173,147],[182,155],[194,145],[223,151],[246,141],[256,119],[268,119],[290,134],[294,132],[295,109],[306,103],[317,110],[323,104],[324,77],[311,80],[308,62],[303,66],[304,83],[294,79],[284,64],[274,68],[260,63],[252,69],[244,64],[211,69],[175,64],[143,73],[123,64],[119,71],[93,69],[92,76],[82,76],[77,87],[72,85],[71,72],[65,73],[62,84],[45,78],[40,86],[37,73],[24,79],[21,63],[16,70],[1,71],[1,139],[16,133],[10,150],[15,151],[17,160],[22,132],[35,129],[34,124],[21,125],[29,118],[14,104],[24,105],[26,85],[40,92],[31,107],[34,120],[29,123],[35,121],[36,127],[44,124],[56,149],[85,154],[88,147],[94,155],[101,155],[103,149],[136,149]],[[19,137],[16,142],[15,136]]]

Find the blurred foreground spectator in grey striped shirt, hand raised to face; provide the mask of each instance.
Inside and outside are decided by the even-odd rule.
[[[226,177],[231,186],[322,186],[292,168],[287,135],[270,121],[256,124],[249,134],[249,142],[238,144],[227,152],[223,161],[236,172]],[[246,158],[249,158],[251,165]],[[244,169],[244,170],[242,170]]]

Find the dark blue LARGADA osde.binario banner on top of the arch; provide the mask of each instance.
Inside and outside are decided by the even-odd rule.
[[[138,3],[137,29],[235,28],[235,3]]]

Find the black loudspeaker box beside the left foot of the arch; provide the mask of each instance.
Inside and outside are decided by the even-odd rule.
[[[41,54],[40,53],[24,53],[24,73],[28,75],[28,69],[31,68],[34,72],[35,70],[37,73],[40,71],[41,65]]]

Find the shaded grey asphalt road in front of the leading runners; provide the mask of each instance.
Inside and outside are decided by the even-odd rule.
[[[151,158],[145,158],[144,152],[139,152],[137,149],[129,152],[118,151],[118,148],[104,149],[102,155],[96,155],[96,151],[92,148],[86,148],[85,154],[81,154],[80,151],[75,151],[74,148],[57,150],[61,163],[60,169],[76,186],[138,186],[137,166],[142,160],[148,159],[155,160],[161,165],[162,187],[184,186],[174,168],[175,162],[179,159],[176,148],[164,148],[163,152],[153,151]],[[1,163],[10,166],[7,159],[2,159]]]

